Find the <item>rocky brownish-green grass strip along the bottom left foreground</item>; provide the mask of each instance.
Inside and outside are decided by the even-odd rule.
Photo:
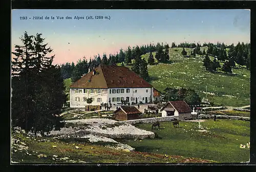
[[[215,161],[182,156],[125,152],[107,148],[100,143],[93,144],[79,139],[57,140],[49,137],[31,137],[23,133],[14,133],[25,150],[14,145],[11,151],[13,163],[211,163]],[[45,139],[42,141],[42,139]],[[76,147],[77,146],[77,147]]]

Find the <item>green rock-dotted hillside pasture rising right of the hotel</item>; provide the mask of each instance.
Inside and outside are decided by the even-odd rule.
[[[203,49],[203,48],[202,48]],[[207,49],[207,48],[205,48]],[[185,49],[190,54],[192,49]],[[151,84],[163,91],[170,88],[191,88],[216,104],[229,106],[243,106],[250,104],[250,71],[244,67],[232,69],[233,74],[223,72],[210,73],[203,67],[203,57],[185,58],[181,55],[182,48],[170,48],[171,64],[159,63],[148,66],[148,73],[152,78]],[[146,58],[147,54],[142,57]],[[223,65],[223,63],[221,63]]]

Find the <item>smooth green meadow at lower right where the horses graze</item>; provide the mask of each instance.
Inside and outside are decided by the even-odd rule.
[[[249,149],[240,144],[250,141],[250,122],[241,120],[206,120],[201,125],[211,134],[197,132],[198,122],[180,122],[174,128],[171,122],[161,122],[160,130],[154,130],[159,139],[123,140],[136,151],[166,155],[197,157],[218,162],[249,161]],[[151,124],[137,124],[151,131]]]

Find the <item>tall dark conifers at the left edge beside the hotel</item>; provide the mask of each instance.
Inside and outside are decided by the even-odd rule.
[[[52,49],[41,35],[25,32],[12,52],[11,123],[43,135],[63,126],[57,115],[67,96],[61,70],[52,65],[54,56],[47,56]]]

